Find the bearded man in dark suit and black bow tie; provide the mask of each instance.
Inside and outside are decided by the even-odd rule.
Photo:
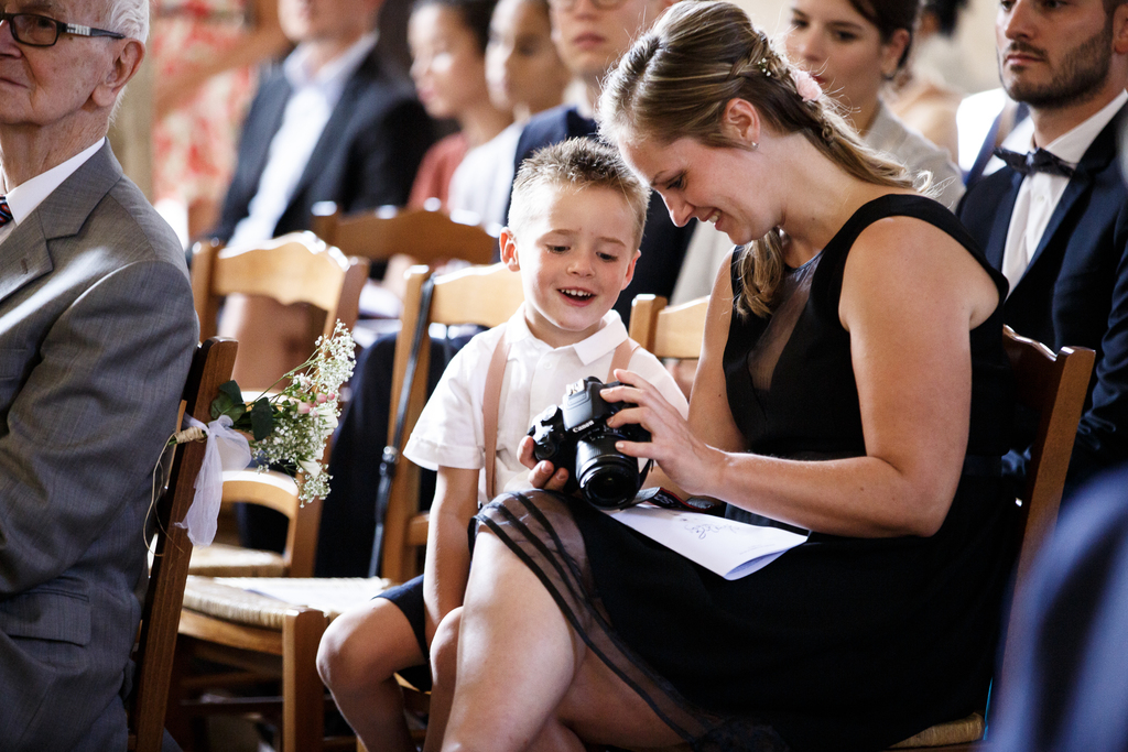
[[[999,74],[1030,108],[1031,152],[1001,154],[1007,167],[959,209],[1011,281],[1006,324],[1055,350],[1096,351],[1070,485],[1128,459],[1128,191],[1118,143],[1128,123],[1126,3],[1001,3]],[[1006,458],[1016,480],[1029,459],[1025,427]]]

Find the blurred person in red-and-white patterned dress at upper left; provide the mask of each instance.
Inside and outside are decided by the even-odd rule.
[[[196,238],[219,219],[255,68],[289,41],[276,0],[153,0],[153,202],[187,213]]]

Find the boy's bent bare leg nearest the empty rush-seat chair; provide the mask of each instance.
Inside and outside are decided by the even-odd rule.
[[[337,617],[321,637],[317,671],[364,746],[414,752],[396,671],[424,663],[404,612],[377,598]]]

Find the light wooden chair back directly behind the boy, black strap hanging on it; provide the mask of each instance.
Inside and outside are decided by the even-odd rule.
[[[525,300],[521,275],[504,264],[473,266],[444,274],[434,281],[429,311],[421,311],[423,283],[431,276],[425,266],[407,272],[407,292],[400,336],[396,342],[391,381],[391,412],[388,435],[395,435],[399,395],[411,357],[412,335],[420,317],[428,324],[476,324],[495,327],[504,324]],[[426,402],[426,374],[431,360],[430,336],[424,328],[415,378],[411,386],[404,437],[411,435]],[[418,574],[418,551],[426,546],[428,515],[418,510],[420,468],[400,458],[391,485],[384,523],[381,574],[393,582],[405,582]]]

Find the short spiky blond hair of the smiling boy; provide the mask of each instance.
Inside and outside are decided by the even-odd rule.
[[[537,188],[583,191],[609,188],[623,195],[634,215],[635,247],[646,224],[650,188],[626,166],[618,150],[594,139],[569,139],[537,150],[521,163],[513,179],[509,227],[519,231],[536,210]]]

